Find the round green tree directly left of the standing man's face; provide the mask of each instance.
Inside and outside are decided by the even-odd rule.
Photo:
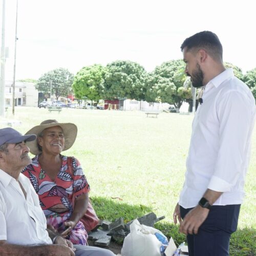
[[[146,100],[174,104],[179,109],[184,100],[191,98],[190,88],[183,88],[186,80],[184,70],[185,63],[181,59],[170,60],[156,67],[145,82]]]

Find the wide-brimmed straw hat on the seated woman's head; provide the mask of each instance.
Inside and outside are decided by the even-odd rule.
[[[76,140],[77,126],[74,123],[58,123],[56,120],[49,119],[41,122],[40,125],[34,126],[26,134],[35,134],[38,137],[42,131],[53,126],[60,126],[63,130],[65,137],[65,147],[63,151],[68,150]],[[27,141],[27,145],[33,155],[39,155],[41,153],[37,146],[37,140]]]

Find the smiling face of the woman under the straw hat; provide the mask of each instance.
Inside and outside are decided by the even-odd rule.
[[[38,137],[38,144],[42,147],[42,152],[58,155],[65,147],[65,138],[60,126],[47,128]]]

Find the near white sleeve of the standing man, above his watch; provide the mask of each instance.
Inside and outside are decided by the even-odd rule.
[[[238,181],[245,164],[242,159],[246,151],[251,115],[247,95],[232,91],[221,96],[217,104],[219,152],[209,189],[230,191]]]

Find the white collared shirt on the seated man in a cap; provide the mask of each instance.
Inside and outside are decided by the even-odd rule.
[[[52,244],[34,188],[23,174],[18,181],[27,199],[18,182],[0,169],[0,240],[19,245]]]

